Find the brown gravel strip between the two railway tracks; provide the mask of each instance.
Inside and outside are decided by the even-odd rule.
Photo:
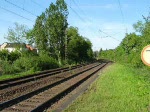
[[[20,85],[5,88],[0,91],[0,103],[7,102],[8,100],[14,99],[21,95],[30,94],[33,92],[35,93],[38,90],[42,90],[42,88],[44,88],[44,87],[46,88],[49,85],[54,86],[55,84],[59,84],[62,81],[68,80],[68,79],[76,76],[76,74],[80,73],[81,69],[83,69],[83,71],[84,71],[84,70],[88,69],[90,66],[95,65],[95,64],[96,63],[86,65],[83,67],[79,67],[76,69],[72,69],[72,70],[69,70],[66,72],[61,72],[61,73],[58,73],[55,75],[50,75],[50,76],[42,78],[42,79],[29,81],[28,83],[22,83]],[[73,74],[73,72],[75,72],[76,74]]]

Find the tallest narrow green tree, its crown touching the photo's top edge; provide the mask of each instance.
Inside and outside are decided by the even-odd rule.
[[[64,0],[57,0],[46,10],[49,41],[59,63],[65,58],[65,34],[68,26],[68,9]]]

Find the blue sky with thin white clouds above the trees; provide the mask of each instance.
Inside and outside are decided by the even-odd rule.
[[[150,0],[65,0],[69,26],[78,27],[93,50],[114,49],[125,33],[134,32],[133,24],[143,21],[150,11]],[[14,23],[32,29],[37,16],[56,0],[0,0],[0,44]]]

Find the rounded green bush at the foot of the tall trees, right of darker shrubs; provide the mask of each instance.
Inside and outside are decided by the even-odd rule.
[[[59,67],[56,60],[53,58],[42,55],[32,57],[21,57],[14,62],[14,67],[17,71],[40,71]]]

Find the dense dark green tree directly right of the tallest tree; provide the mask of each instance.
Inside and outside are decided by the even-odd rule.
[[[67,31],[68,58],[77,62],[84,62],[93,58],[91,42],[80,36],[76,28],[70,27]]]

